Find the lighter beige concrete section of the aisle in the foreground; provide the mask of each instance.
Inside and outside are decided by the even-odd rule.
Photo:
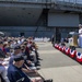
[[[40,69],[38,70],[38,72],[45,79],[52,79],[54,82],[82,82],[82,72],[75,71],[73,68],[77,68],[79,71],[82,71],[82,66],[70,66]]]

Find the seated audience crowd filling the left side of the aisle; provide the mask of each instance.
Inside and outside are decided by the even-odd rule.
[[[1,82],[44,82],[37,72],[37,49],[32,37],[0,37]]]

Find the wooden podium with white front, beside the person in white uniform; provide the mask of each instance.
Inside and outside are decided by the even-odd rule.
[[[69,35],[71,35],[71,38],[69,38],[70,48],[75,49],[75,47],[78,47],[78,35],[79,35],[79,33],[70,32]]]

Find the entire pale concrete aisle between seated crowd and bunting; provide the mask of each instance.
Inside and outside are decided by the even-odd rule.
[[[82,82],[82,66],[70,57],[55,49],[50,43],[37,43],[40,70],[45,79],[54,82]]]

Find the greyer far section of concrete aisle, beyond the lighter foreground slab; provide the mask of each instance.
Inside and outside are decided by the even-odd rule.
[[[39,57],[42,59],[42,68],[56,68],[79,65],[75,60],[55,49],[50,43],[38,43],[38,47]]]

